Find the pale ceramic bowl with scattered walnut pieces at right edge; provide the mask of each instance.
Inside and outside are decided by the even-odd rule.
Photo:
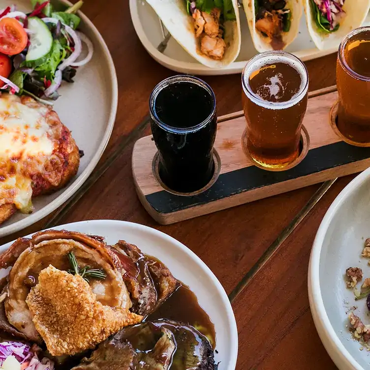
[[[348,309],[370,323],[366,299],[354,300],[345,287],[348,267],[360,267],[370,277],[369,259],[361,258],[370,237],[370,168],[338,195],[323,218],[312,247],[308,269],[308,296],[317,332],[340,370],[370,369],[370,354],[352,339],[345,327]],[[358,284],[360,287],[361,284]],[[346,303],[348,302],[348,303]]]

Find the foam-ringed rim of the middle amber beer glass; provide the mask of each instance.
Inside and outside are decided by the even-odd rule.
[[[291,60],[293,62],[297,62],[302,67],[302,71],[303,71],[304,75],[306,76],[306,82],[305,82],[305,85],[303,86],[303,88],[300,89],[300,91],[297,93],[296,96],[293,96],[288,101],[274,102],[274,101],[267,101],[267,100],[261,99],[258,95],[256,95],[251,90],[251,88],[249,86],[249,77],[248,77],[248,80],[246,82],[246,79],[245,79],[246,70],[250,66],[250,64],[255,63],[259,59],[264,59],[264,58],[269,58],[269,57],[272,57],[272,58],[273,57],[276,57],[276,58],[283,57],[284,59],[288,59],[288,60]],[[260,105],[262,107],[265,107],[265,108],[270,108],[270,109],[286,109],[286,108],[289,108],[289,107],[297,104],[298,102],[300,102],[303,99],[303,97],[306,95],[306,93],[308,92],[308,70],[307,70],[307,67],[306,67],[305,63],[303,63],[299,58],[297,58],[293,54],[287,53],[287,52],[282,51],[282,50],[266,51],[266,52],[257,54],[256,56],[254,56],[253,58],[251,58],[247,62],[247,64],[245,65],[245,67],[243,69],[243,72],[242,72],[242,87],[243,87],[244,93],[247,95],[247,97],[253,103],[255,103],[257,105]]]

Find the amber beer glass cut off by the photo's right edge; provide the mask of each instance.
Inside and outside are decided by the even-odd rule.
[[[344,37],[337,59],[338,129],[355,143],[370,144],[370,27]]]

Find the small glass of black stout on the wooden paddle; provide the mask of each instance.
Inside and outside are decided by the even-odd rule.
[[[150,97],[151,126],[159,155],[159,177],[170,189],[189,193],[213,177],[216,97],[202,80],[174,76]]]

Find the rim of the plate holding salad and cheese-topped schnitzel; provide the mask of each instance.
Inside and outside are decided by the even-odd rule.
[[[71,6],[72,3],[67,0],[59,0],[60,2],[66,4],[67,6]],[[90,19],[83,14],[82,12],[79,12],[79,16],[81,17],[82,22],[86,27],[88,27],[94,36],[96,37],[96,40],[100,43],[100,46],[102,47],[102,50],[104,52],[104,56],[106,58],[107,64],[109,66],[109,74],[112,84],[112,103],[111,103],[111,110],[109,117],[107,118],[107,127],[104,132],[104,135],[102,137],[102,141],[92,157],[90,163],[86,166],[85,170],[78,175],[76,179],[73,179],[70,184],[67,185],[67,188],[60,194],[57,198],[55,198],[53,201],[51,201],[49,204],[41,208],[40,210],[36,211],[35,213],[31,214],[28,217],[25,217],[19,221],[16,221],[14,223],[11,223],[9,225],[0,226],[0,237],[9,235],[11,233],[14,233],[16,231],[22,230],[33,223],[37,222],[41,218],[49,215],[53,211],[55,211],[59,206],[61,206],[65,201],[67,201],[80,187],[81,185],[87,180],[87,178],[92,173],[93,169],[95,168],[96,164],[98,163],[100,157],[104,153],[104,150],[108,144],[108,141],[111,137],[114,122],[116,119],[117,114],[117,107],[118,107],[118,81],[117,81],[117,74],[116,69],[114,66],[114,62],[112,59],[112,56],[109,52],[109,49],[99,33],[99,31],[96,29],[96,27],[92,24]],[[47,195],[46,195],[47,196]],[[11,219],[10,219],[11,221]]]

